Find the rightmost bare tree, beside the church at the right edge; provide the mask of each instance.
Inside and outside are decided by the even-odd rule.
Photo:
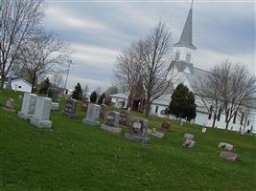
[[[244,64],[224,61],[217,66],[221,78],[221,99],[225,113],[225,129],[256,92],[256,77],[250,74]]]

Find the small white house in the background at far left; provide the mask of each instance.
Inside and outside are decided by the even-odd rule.
[[[10,88],[18,92],[31,93],[32,84],[23,78],[7,77],[4,88]]]

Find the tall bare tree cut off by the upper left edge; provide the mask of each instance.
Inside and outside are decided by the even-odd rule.
[[[21,46],[25,46],[31,32],[43,16],[43,1],[0,0],[0,89],[17,59]]]

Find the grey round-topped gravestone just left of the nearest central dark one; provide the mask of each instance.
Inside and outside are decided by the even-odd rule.
[[[119,113],[110,111],[105,115],[105,124],[101,124],[101,128],[116,134],[121,134],[122,129],[119,127]]]

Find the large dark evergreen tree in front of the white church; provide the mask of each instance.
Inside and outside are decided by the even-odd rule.
[[[190,121],[196,117],[195,96],[183,84],[177,85],[169,105],[169,114]]]

